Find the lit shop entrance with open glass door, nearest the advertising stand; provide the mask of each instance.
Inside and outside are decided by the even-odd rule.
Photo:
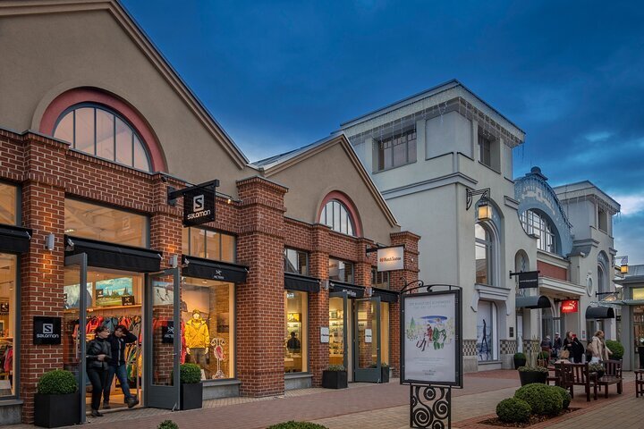
[[[329,364],[346,367],[349,381],[380,382],[380,298],[329,296]]]

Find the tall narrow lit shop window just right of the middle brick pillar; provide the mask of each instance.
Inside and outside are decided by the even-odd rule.
[[[306,372],[309,294],[284,290],[284,304],[284,372]]]

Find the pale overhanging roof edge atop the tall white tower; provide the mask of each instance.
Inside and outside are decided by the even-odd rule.
[[[396,101],[391,105],[386,105],[381,107],[369,114],[363,114],[357,118],[354,118],[350,121],[343,122],[340,124],[341,130],[347,130],[352,128],[360,123],[369,122],[376,120],[377,118],[384,116],[386,114],[391,114],[394,111],[405,109],[411,111],[420,110],[422,108],[428,107],[428,105],[435,105],[439,103],[444,103],[447,101],[445,96],[447,93],[451,95],[447,98],[462,97],[466,99],[471,105],[477,108],[481,113],[486,114],[495,122],[498,122],[502,125],[508,132],[510,132],[515,139],[519,142],[523,142],[525,139],[525,131],[521,130],[516,124],[507,119],[504,114],[501,114],[491,105],[488,105],[483,98],[477,96],[470,88],[467,88],[459,80],[448,80],[445,83],[436,85],[436,87],[426,89],[418,94],[415,94],[411,97],[403,98],[402,100]]]

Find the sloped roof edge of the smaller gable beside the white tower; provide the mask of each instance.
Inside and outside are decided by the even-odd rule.
[[[311,143],[310,145],[300,147],[299,149],[256,161],[249,164],[249,166],[257,169],[259,172],[262,172],[265,177],[270,177],[277,172],[284,171],[294,164],[300,163],[310,156],[316,156],[320,152],[323,152],[329,147],[333,147],[335,145],[340,145],[341,147],[343,147],[344,152],[347,154],[347,157],[355,167],[356,172],[358,172],[365,186],[367,187],[367,189],[369,189],[369,193],[376,200],[377,206],[379,206],[383,213],[386,215],[387,221],[391,225],[398,225],[394,214],[386,204],[385,198],[382,197],[374,182],[371,181],[369,173],[365,170],[362,163],[360,163],[358,155],[355,153],[351,143],[349,143],[349,140],[342,132],[336,132],[329,137],[326,137],[325,139],[320,139],[314,143]]]

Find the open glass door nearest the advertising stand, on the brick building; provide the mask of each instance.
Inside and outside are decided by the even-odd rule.
[[[353,381],[380,383],[380,297],[353,303]]]

